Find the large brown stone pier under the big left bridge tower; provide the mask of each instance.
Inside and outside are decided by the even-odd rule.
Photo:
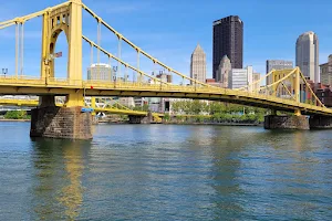
[[[31,137],[92,139],[91,113],[81,107],[39,107],[31,110]]]

